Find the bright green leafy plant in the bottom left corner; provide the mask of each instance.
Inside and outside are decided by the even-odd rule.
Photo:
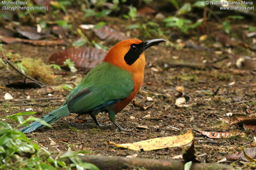
[[[44,147],[39,146],[33,142],[33,139],[26,137],[16,127],[28,125],[29,121],[40,121],[45,126],[50,126],[43,120],[30,116],[27,120],[23,120],[23,115],[33,115],[36,112],[21,112],[14,115],[8,115],[0,118],[0,169],[70,169],[76,167],[77,169],[91,169],[99,170],[93,164],[83,163],[78,157],[79,153],[89,153],[87,151],[71,151],[59,153],[53,159],[52,154]],[[4,122],[5,119],[12,119],[18,122],[18,126],[12,128],[9,123]],[[69,145],[70,146],[70,145]],[[73,163],[67,165],[61,159],[69,158]]]

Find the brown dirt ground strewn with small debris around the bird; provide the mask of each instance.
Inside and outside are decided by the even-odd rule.
[[[194,36],[194,39],[198,41],[199,36]],[[184,42],[185,40],[182,41]],[[174,43],[177,42],[174,41]],[[208,43],[215,42],[209,40]],[[108,46],[111,47],[112,45],[114,44],[109,44]],[[5,45],[4,49],[12,53],[18,53],[21,56],[42,58],[44,62],[47,62],[49,56],[61,50],[62,47],[38,47],[15,43]],[[240,53],[241,51],[247,53],[246,49],[241,47],[231,50],[235,53]],[[134,128],[131,132],[119,131],[111,124],[108,116],[104,113],[99,114],[97,118],[101,124],[110,124],[107,127],[97,127],[90,116],[81,116],[77,119],[75,114],[71,114],[54,123],[52,129],[36,130],[34,133],[28,134],[28,137],[34,138],[36,143],[53,152],[59,150],[67,151],[70,146],[72,150],[82,149],[95,155],[127,156],[138,154],[137,157],[139,158],[172,159],[172,157],[182,154],[183,147],[189,147],[190,144],[157,151],[138,152],[113,147],[108,145],[106,140],[118,144],[132,143],[155,137],[180,135],[192,128],[241,132],[242,128],[229,127],[228,124],[219,120],[215,114],[219,116],[229,112],[255,114],[255,72],[246,71],[241,75],[228,70],[228,62],[232,63],[230,68],[236,69],[233,59],[230,57],[215,63],[220,69],[213,67],[204,69],[171,67],[171,64],[175,62],[202,64],[206,60],[211,63],[227,55],[227,53],[215,54],[211,51],[193,48],[175,49],[162,43],[145,52],[145,78],[141,90],[136,96],[136,101],[145,106],[154,103],[153,107],[143,111],[139,107],[134,107],[130,104],[116,115],[116,121],[122,127]],[[84,76],[84,71],[66,72],[68,73],[67,75],[58,75],[60,78],[55,86],[66,84],[67,82],[77,82]],[[65,97],[69,93],[68,90],[62,88],[53,91],[47,91],[49,87],[41,89],[7,88],[5,84],[22,78],[14,70],[6,68],[0,70],[0,75],[0,99],[4,99],[5,92],[9,92],[14,99],[24,99],[28,95],[31,99],[47,98],[49,93],[52,94],[51,97]],[[231,82],[235,83],[228,85]],[[183,86],[184,93],[190,96],[188,104],[197,103],[196,106],[190,108],[175,107],[176,86]],[[216,92],[218,88],[219,91]],[[215,95],[213,95],[214,92],[216,92]],[[151,97],[153,100],[148,101],[146,97]],[[6,101],[0,105],[0,115],[3,117],[23,112],[26,108],[32,108],[34,111],[38,111],[35,117],[40,118],[61,106],[62,102],[64,102],[64,99],[33,102]],[[13,122],[11,123],[13,124]],[[138,125],[144,125],[148,128],[135,128]],[[209,162],[217,162],[243,147],[256,147],[256,143],[253,142],[253,134],[247,131],[244,131],[245,137],[236,136],[222,139],[210,139],[195,131],[193,133],[196,155],[206,153],[206,155],[198,157],[201,161],[206,159]],[[52,141],[56,144],[52,144]],[[242,166],[239,161],[227,160],[223,163]]]

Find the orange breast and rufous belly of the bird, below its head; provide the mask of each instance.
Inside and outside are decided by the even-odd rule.
[[[117,102],[114,105],[113,110],[116,113],[120,112],[125,106],[127,106],[135,98],[136,94],[140,90],[140,87],[141,87],[142,82],[143,82],[143,78],[144,78],[144,70],[132,74],[132,79],[133,79],[133,82],[134,82],[133,91],[132,91],[130,96],[128,96],[127,98]]]

